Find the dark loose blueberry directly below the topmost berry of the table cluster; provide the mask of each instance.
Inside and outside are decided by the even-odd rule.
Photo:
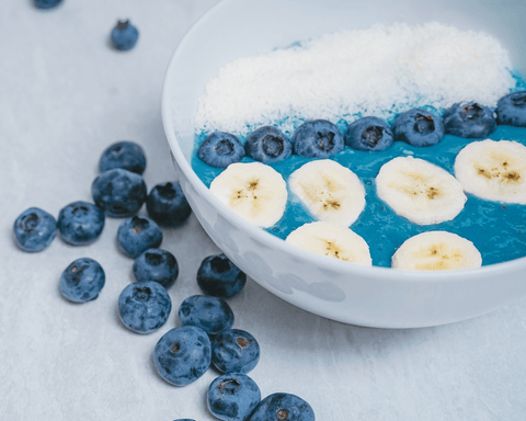
[[[91,193],[96,206],[114,218],[135,215],[147,195],[142,177],[121,168],[102,172],[93,181]]]

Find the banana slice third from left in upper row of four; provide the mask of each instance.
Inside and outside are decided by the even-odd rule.
[[[446,170],[423,159],[400,157],[380,168],[378,196],[414,224],[451,220],[468,200],[462,185]]]

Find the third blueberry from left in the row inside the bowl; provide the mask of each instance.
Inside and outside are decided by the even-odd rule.
[[[290,141],[294,153],[304,158],[329,158],[343,150],[343,136],[339,128],[327,120],[313,120],[301,124]]]

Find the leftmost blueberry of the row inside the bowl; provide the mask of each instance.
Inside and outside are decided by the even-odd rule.
[[[244,148],[236,136],[214,132],[201,144],[197,157],[210,167],[227,168],[244,157]]]

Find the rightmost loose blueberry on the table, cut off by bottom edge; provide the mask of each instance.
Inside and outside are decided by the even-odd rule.
[[[312,407],[291,394],[273,394],[255,408],[250,421],[315,421]]]

